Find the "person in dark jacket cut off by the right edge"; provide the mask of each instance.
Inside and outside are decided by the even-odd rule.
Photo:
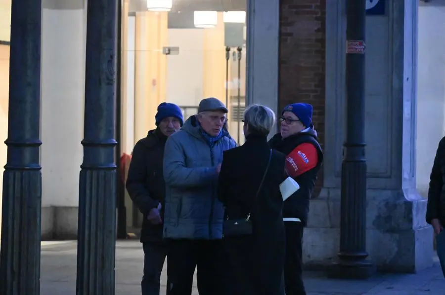
[[[445,137],[439,142],[431,170],[426,221],[433,225],[437,255],[445,276]]]

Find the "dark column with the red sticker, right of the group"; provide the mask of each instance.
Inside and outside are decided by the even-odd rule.
[[[365,0],[347,0],[347,40],[365,40]],[[347,127],[341,183],[340,264],[345,276],[367,277],[365,54],[346,54]],[[350,271],[348,271],[348,269]]]

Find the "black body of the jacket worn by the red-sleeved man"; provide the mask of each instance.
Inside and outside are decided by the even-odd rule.
[[[317,180],[317,173],[323,163],[323,152],[317,142],[316,132],[311,128],[307,132],[299,132],[285,139],[278,133],[269,141],[270,147],[286,155],[290,154],[299,145],[305,143],[310,143],[316,148],[318,152],[318,163],[311,170],[295,178],[295,181],[300,185],[300,189],[284,202],[283,217],[299,218],[303,225],[306,226],[309,215],[309,202]]]

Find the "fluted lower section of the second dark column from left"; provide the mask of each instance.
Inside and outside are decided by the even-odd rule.
[[[116,170],[80,172],[77,295],[114,295]]]

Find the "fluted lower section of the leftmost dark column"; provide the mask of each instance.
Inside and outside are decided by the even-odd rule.
[[[35,170],[33,170],[35,169]],[[3,173],[0,294],[40,294],[40,167]]]

